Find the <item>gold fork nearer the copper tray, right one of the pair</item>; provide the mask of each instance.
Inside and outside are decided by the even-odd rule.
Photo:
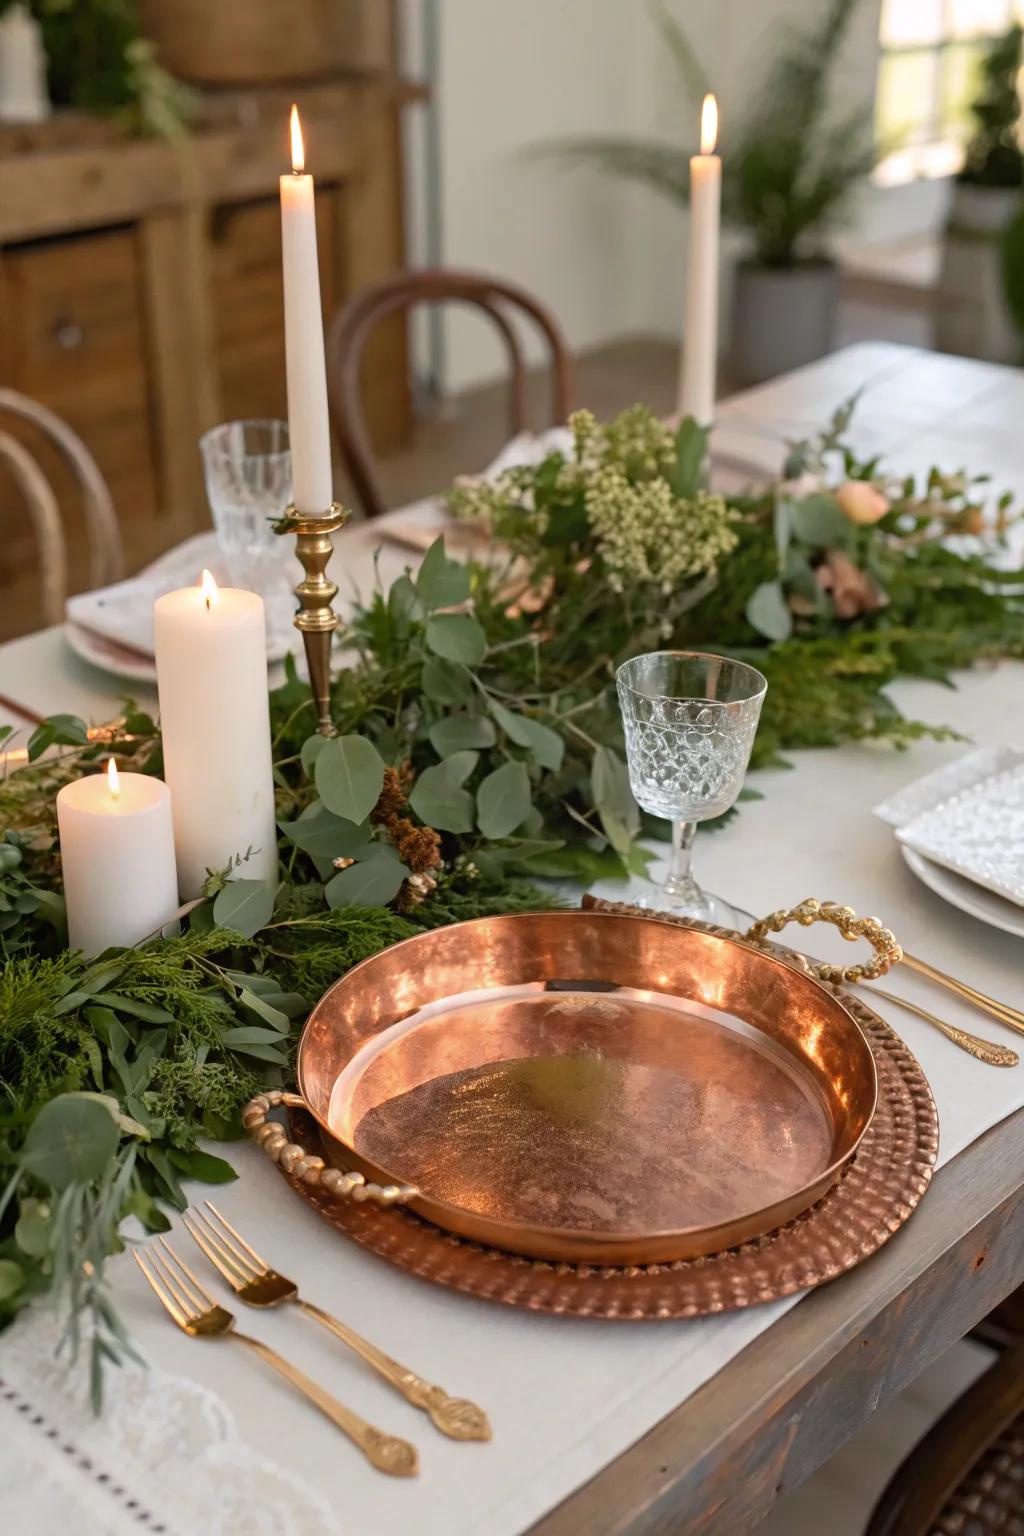
[[[385,1381],[390,1381],[407,1402],[428,1413],[442,1435],[448,1435],[451,1439],[485,1441],[491,1438],[491,1425],[482,1409],[477,1409],[468,1398],[450,1398],[444,1387],[434,1387],[424,1381],[422,1376],[399,1366],[396,1359],[379,1350],[376,1344],[364,1339],[355,1329],[339,1322],[330,1312],[313,1306],[312,1301],[304,1301],[295,1281],[272,1269],[212,1201],[206,1200],[204,1206],[209,1215],[193,1206],[184,1215],[184,1224],[213,1269],[223,1275],[241,1301],[250,1307],[276,1307],[282,1301],[293,1301],[309,1318],[325,1327]]]

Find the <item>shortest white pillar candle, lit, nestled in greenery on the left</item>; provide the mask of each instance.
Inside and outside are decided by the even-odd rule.
[[[178,909],[170,791],[141,773],[66,783],[57,796],[68,942],[86,955],[135,945]]]

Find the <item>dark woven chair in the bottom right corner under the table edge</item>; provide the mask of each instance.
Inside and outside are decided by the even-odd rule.
[[[1001,1355],[915,1445],[864,1536],[1024,1536],[1024,1289],[975,1335]]]

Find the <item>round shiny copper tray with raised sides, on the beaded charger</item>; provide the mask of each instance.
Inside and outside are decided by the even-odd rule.
[[[313,1009],[298,1078],[327,1161],[376,1183],[356,1197],[385,1186],[457,1236],[605,1266],[808,1210],[877,1100],[834,991],[735,935],[608,911],[461,923],[362,962]]]

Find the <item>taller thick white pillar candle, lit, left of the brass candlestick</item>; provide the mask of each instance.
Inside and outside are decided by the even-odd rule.
[[[263,599],[203,571],[201,587],[157,599],[154,630],[181,897],[236,859],[241,879],[269,880],[278,839]]]

